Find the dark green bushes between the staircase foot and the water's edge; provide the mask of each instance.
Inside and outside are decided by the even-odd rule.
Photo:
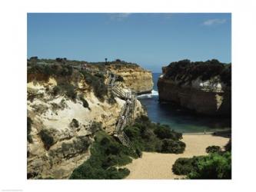
[[[182,134],[172,131],[168,125],[151,123],[146,116],[137,118],[135,124],[125,127],[125,134],[140,151],[177,154],[185,150],[185,143],[179,141]]]

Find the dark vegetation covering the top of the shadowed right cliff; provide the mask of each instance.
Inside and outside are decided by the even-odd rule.
[[[185,59],[171,62],[163,70],[164,78],[180,81],[181,84],[191,82],[197,78],[205,81],[219,75],[224,84],[231,86],[231,64],[221,63],[217,59],[195,62]]]

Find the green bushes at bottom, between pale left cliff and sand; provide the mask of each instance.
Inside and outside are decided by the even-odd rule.
[[[138,157],[134,151],[120,144],[104,131],[98,131],[91,146],[91,157],[77,167],[70,179],[121,179],[130,173],[126,168],[117,169],[131,163],[131,157]]]

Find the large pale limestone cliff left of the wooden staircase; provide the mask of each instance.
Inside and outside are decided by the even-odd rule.
[[[28,70],[28,178],[68,178],[89,157],[95,131],[115,130],[125,101],[96,94],[95,88],[103,86],[94,79],[98,74],[44,70]],[[137,101],[135,118],[141,114],[145,111]]]

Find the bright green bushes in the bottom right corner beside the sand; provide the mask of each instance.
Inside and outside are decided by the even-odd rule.
[[[175,174],[186,175],[188,179],[231,179],[231,147],[220,151],[218,146],[206,148],[209,155],[178,158],[172,166]]]

